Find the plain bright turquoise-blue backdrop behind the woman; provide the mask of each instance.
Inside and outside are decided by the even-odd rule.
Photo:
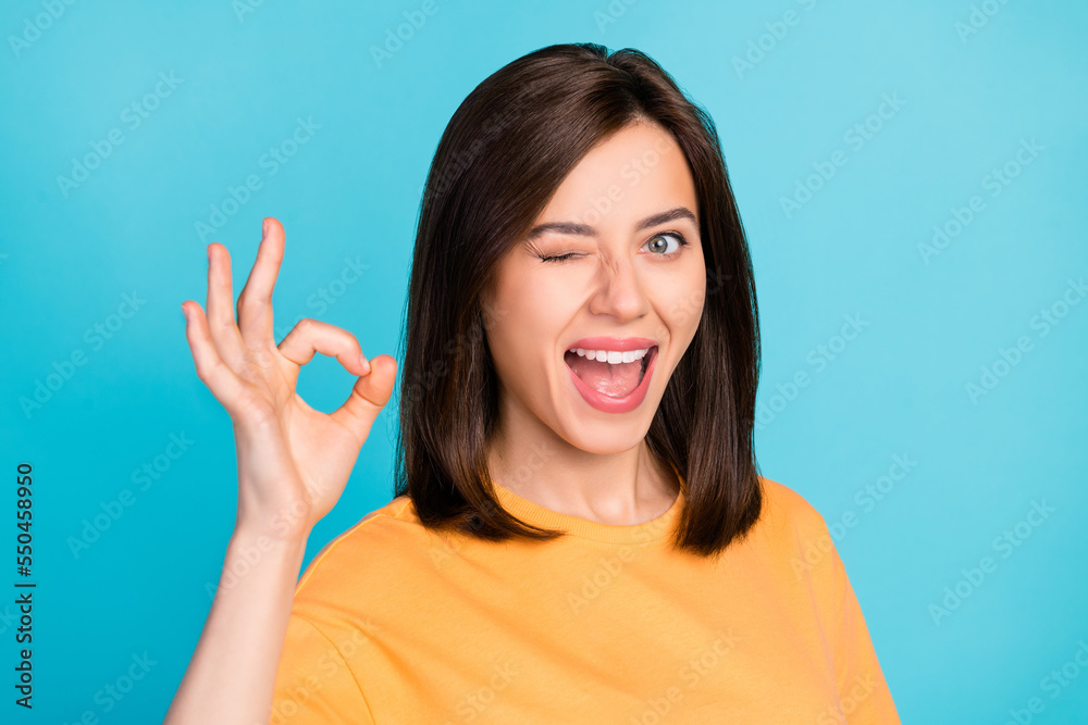
[[[903,722],[1085,722],[1088,667],[1074,655],[1088,642],[1088,303],[1068,285],[1088,274],[1088,8],[436,0],[379,66],[371,47],[421,4],[58,0],[59,17],[22,45],[12,38],[33,36],[50,0],[0,10],[0,511],[12,512],[0,586],[18,578],[21,461],[34,465],[38,583],[35,708],[12,704],[17,623],[0,607],[0,720],[158,722],[188,663],[237,501],[230,418],[195,374],[180,310],[203,303],[205,245],[231,250],[237,292],[261,217],[279,217],[277,339],[311,316],[356,334],[369,357],[395,354],[420,191],[450,114],[505,63],[596,41],[650,53],[717,123],[758,287],[762,470],[832,525]],[[788,11],[795,23],[774,25]],[[758,61],[739,71],[750,51]],[[180,83],[133,128],[122,112],[160,73]],[[900,108],[873,121],[882,95]],[[299,117],[320,128],[271,174],[262,154]],[[879,130],[858,147],[851,128],[866,120]],[[62,189],[58,176],[111,129],[123,142]],[[1017,167],[1033,139],[1041,150]],[[783,211],[832,158],[834,175]],[[1006,163],[1017,175],[994,187]],[[201,238],[196,223],[251,174],[261,188]],[[927,258],[919,243],[973,196],[981,211]],[[335,284],[353,263],[366,272]],[[111,318],[123,295],[144,302]],[[1043,326],[1044,310],[1056,324]],[[848,315],[861,332],[838,339]],[[121,325],[87,337],[96,323]],[[1016,364],[994,368],[1002,349]],[[73,352],[85,364],[24,412]],[[808,384],[792,389],[799,373]],[[329,411],[350,384],[318,359],[300,391]],[[388,500],[395,415],[383,411],[307,563]],[[171,434],[191,441],[176,459]],[[915,462],[905,475],[895,455]],[[156,461],[141,490],[133,476]],[[881,499],[866,486],[883,486]],[[121,515],[73,552],[111,502]],[[1053,511],[1022,523],[1033,502]],[[984,557],[996,568],[972,584],[963,570]],[[957,583],[966,597],[935,615]],[[103,696],[145,653],[146,676],[120,701]],[[1041,712],[1026,711],[1031,698]]]

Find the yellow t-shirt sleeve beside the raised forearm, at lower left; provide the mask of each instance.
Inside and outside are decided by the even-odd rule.
[[[358,635],[355,635],[358,637]],[[373,725],[359,683],[334,643],[297,612],[287,622],[270,725]],[[347,645],[350,651],[351,638]]]

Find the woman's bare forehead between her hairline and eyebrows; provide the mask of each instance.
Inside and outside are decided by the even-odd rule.
[[[696,207],[688,161],[671,134],[640,122],[590,149],[564,178],[537,223],[598,221],[604,226],[673,207]]]

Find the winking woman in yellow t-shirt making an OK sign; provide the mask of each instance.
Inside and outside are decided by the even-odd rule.
[[[183,305],[239,510],[168,723],[899,722],[824,520],[757,473],[743,229],[712,120],[651,59],[543,48],[458,108],[395,498],[297,586],[396,362],[312,321],[275,345],[283,248],[265,220],[237,322],[220,245],[207,317]],[[331,415],[295,392],[314,352],[359,376]]]

